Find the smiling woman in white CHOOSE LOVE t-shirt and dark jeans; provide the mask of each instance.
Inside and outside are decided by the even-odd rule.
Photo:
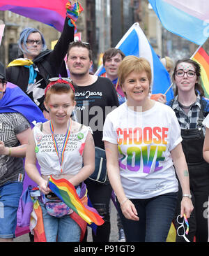
[[[118,78],[126,101],[107,115],[102,140],[125,238],[165,242],[178,197],[176,174],[190,194],[180,126],[169,106],[148,97],[152,71],[147,59],[125,57]],[[192,201],[183,197],[180,214],[189,218],[192,209]]]

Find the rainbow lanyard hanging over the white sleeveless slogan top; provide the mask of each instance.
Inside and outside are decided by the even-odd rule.
[[[63,172],[62,164],[63,164],[63,159],[64,159],[64,152],[65,152],[66,145],[68,143],[68,138],[70,136],[71,126],[72,126],[72,121],[71,121],[71,118],[70,118],[70,125],[69,125],[68,130],[66,131],[66,134],[65,134],[65,140],[63,142],[63,147],[62,147],[62,150],[61,150],[61,154],[59,154],[59,147],[57,145],[56,138],[54,137],[54,127],[52,125],[52,120],[50,121],[50,129],[51,129],[51,132],[52,132],[52,139],[53,139],[53,142],[54,142],[54,148],[56,150],[56,155],[59,158],[59,164],[61,166],[61,173]]]

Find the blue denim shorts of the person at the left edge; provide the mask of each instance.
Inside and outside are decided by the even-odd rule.
[[[0,238],[15,238],[17,208],[22,194],[22,183],[8,182],[0,186]]]

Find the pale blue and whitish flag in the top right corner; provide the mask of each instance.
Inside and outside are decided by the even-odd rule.
[[[209,36],[208,0],[148,0],[162,25],[197,45]]]

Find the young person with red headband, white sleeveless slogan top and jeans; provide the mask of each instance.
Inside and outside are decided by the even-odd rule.
[[[79,242],[86,230],[86,222],[47,186],[49,176],[56,180],[64,178],[75,186],[82,201],[88,201],[83,181],[94,170],[94,143],[91,128],[70,118],[75,104],[75,88],[71,80],[49,79],[45,89],[45,107],[51,120],[36,124],[26,150],[26,172],[38,184],[40,191],[38,204],[45,232],[41,241]],[[37,241],[36,237],[34,240]]]

